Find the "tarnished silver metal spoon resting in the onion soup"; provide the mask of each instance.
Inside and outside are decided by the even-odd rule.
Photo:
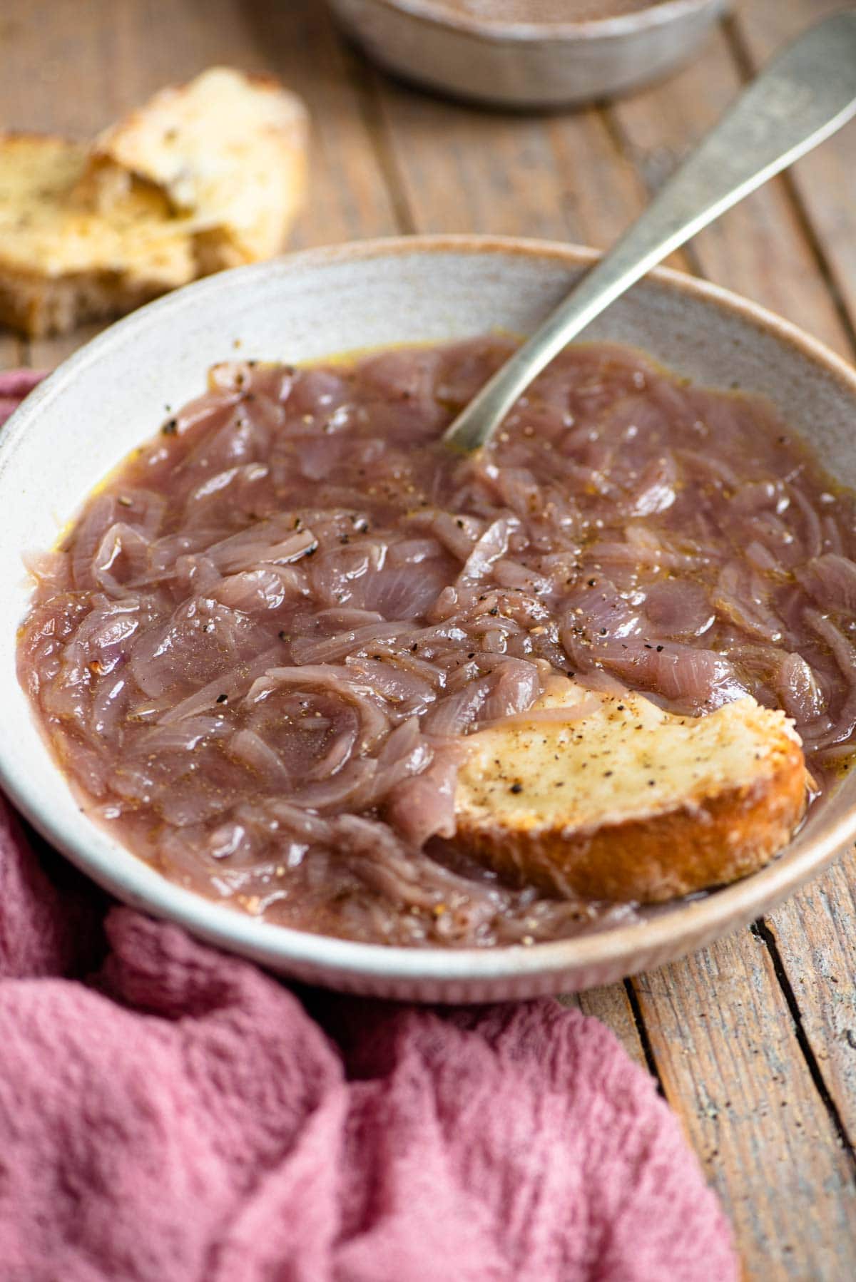
[[[853,115],[856,9],[847,9],[752,81],[617,245],[458,414],[445,442],[463,451],[485,445],[533,378],[610,303]]]

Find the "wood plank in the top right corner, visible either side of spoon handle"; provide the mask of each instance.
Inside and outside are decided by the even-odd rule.
[[[755,0],[735,6],[730,29],[746,64],[757,69],[788,40],[841,8],[839,0]],[[850,124],[791,176],[851,333],[856,331],[855,138],[856,126]]]

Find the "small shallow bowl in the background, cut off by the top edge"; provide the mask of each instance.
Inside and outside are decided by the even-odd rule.
[[[675,68],[726,0],[661,0],[594,22],[501,22],[443,0],[329,0],[344,29],[398,76],[495,106],[560,108],[612,97]],[[486,8],[486,6],[485,6]]]

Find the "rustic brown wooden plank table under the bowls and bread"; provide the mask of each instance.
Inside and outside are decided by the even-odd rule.
[[[0,123],[87,136],[205,65],[270,71],[314,119],[312,201],[295,246],[432,231],[607,245],[753,69],[838,8],[743,0],[666,83],[610,106],[522,117],[393,83],[343,45],[322,0],[3,0]],[[852,358],[855,155],[851,127],[676,265]],[[0,336],[0,365],[50,367],[85,337]],[[853,886],[850,853],[715,947],[579,997],[657,1076],[752,1278],[856,1277]]]

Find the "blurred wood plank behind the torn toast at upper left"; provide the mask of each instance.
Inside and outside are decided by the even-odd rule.
[[[209,0],[148,5],[89,0],[5,0],[0,47],[0,123],[90,137],[163,85],[228,63],[271,72],[300,92],[313,121],[311,200],[295,247],[391,235],[398,221],[371,142],[353,55],[313,0],[281,4]],[[157,38],[153,38],[157,33]],[[100,327],[91,327],[89,333]],[[50,367],[80,346],[82,333],[33,346]],[[0,347],[0,362],[18,356]]]

